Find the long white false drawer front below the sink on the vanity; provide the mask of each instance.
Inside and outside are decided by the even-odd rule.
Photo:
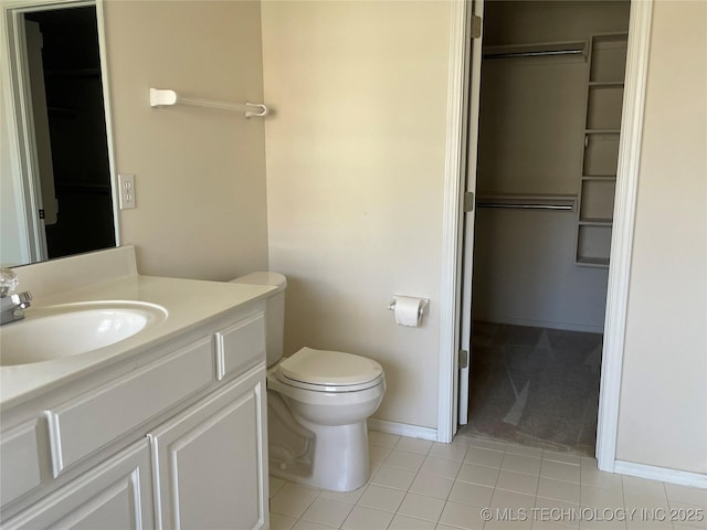
[[[212,380],[207,337],[45,411],[54,477]]]

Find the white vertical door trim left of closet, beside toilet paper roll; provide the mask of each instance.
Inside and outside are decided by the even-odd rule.
[[[451,3],[450,78],[446,104],[444,212],[442,225],[442,285],[440,287],[439,442],[452,442],[456,432],[457,356],[460,329],[462,145],[464,123],[464,35],[466,1]]]

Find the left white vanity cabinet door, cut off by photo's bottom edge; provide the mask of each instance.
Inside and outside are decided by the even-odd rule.
[[[36,528],[154,528],[150,451],[134,444],[31,508],[2,523],[3,530]]]

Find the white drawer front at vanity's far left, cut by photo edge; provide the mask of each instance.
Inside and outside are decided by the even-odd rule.
[[[0,445],[0,498],[17,499],[42,483],[36,445],[36,421],[2,434]]]

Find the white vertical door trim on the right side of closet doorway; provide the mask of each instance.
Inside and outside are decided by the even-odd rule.
[[[631,2],[629,50],[619,145],[614,222],[606,289],[604,350],[601,365],[597,462],[599,469],[615,468],[619,401],[631,278],[631,253],[643,138],[643,114],[651,43],[653,0]]]

